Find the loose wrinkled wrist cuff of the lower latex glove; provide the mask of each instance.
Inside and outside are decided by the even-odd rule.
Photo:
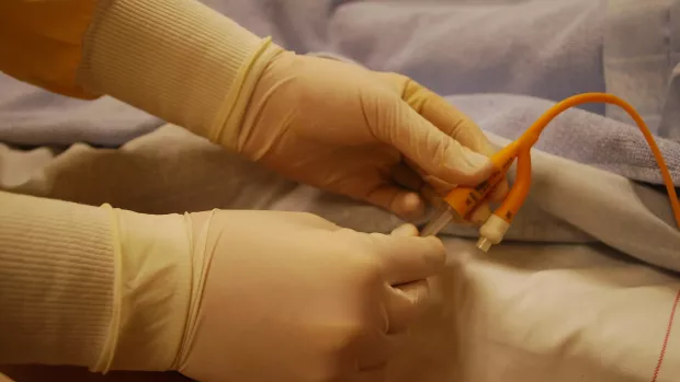
[[[91,370],[173,369],[191,304],[191,225],[179,215],[111,209],[111,217],[113,314],[99,361]]]

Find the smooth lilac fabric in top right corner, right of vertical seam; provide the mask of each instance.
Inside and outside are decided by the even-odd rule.
[[[680,1],[611,0],[608,5],[602,57],[607,90],[631,102],[660,136],[677,140]],[[607,116],[630,120],[616,107],[608,107]]]

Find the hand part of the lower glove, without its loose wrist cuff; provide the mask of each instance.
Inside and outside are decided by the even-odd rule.
[[[188,221],[194,282],[178,369],[202,382],[383,381],[444,265],[442,243],[409,238],[409,225],[366,234],[275,211]]]

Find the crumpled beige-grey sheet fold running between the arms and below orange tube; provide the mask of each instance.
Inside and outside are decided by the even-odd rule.
[[[490,137],[496,144],[507,142]],[[75,144],[55,153],[3,147],[0,163],[11,164],[0,171],[2,189],[91,205],[110,202],[139,212],[304,210],[343,227],[378,232],[400,223],[378,208],[286,181],[172,125],[116,150]],[[680,270],[680,231],[672,224],[664,192],[534,150],[531,193],[506,238],[603,242]],[[477,235],[476,229],[461,225],[444,233]]]

